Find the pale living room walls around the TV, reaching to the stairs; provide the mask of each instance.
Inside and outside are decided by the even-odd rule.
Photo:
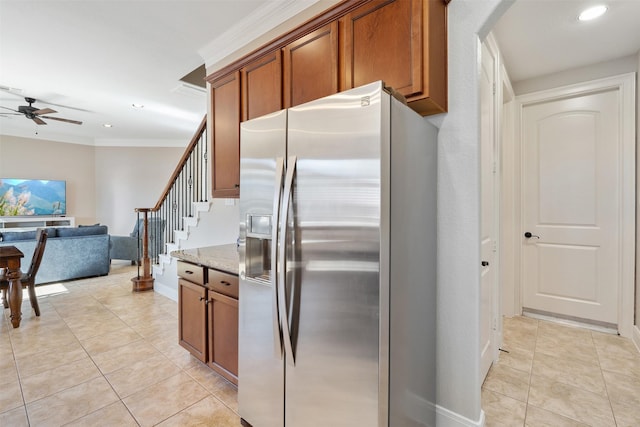
[[[151,207],[184,148],[94,147],[0,135],[0,178],[67,181],[67,215],[129,234],[137,207]]]

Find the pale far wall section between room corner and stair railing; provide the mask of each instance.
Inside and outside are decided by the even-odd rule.
[[[97,222],[114,235],[133,230],[135,208],[155,206],[184,147],[95,147]]]

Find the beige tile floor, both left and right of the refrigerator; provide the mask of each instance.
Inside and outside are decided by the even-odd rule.
[[[239,426],[236,388],[177,344],[177,306],[131,293],[135,267],[38,287],[0,319],[0,426]],[[506,318],[487,376],[488,426],[640,426],[640,354],[626,339]]]

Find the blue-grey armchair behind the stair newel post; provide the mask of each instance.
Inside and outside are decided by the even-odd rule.
[[[165,220],[153,217],[149,218],[148,222],[149,258],[153,259],[163,251]],[[142,258],[143,233],[144,220],[139,219],[128,236],[109,236],[109,259],[130,260],[132,264],[138,262]]]

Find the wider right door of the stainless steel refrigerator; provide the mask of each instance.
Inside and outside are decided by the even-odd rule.
[[[285,239],[295,353],[295,366],[286,365],[288,427],[381,425],[385,102],[378,82],[289,110],[288,155],[297,164]]]

